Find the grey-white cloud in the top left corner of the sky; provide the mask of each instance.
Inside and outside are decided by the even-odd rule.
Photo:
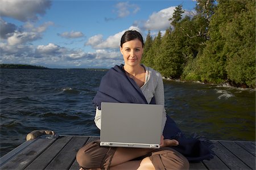
[[[43,16],[47,8],[51,7],[51,1],[33,0],[0,0],[0,15],[27,22],[38,20],[38,15]]]

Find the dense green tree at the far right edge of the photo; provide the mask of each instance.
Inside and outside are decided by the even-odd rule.
[[[226,71],[236,84],[255,87],[255,1],[247,0],[240,14],[226,25]]]

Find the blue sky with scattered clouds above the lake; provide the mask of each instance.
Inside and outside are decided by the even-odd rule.
[[[195,0],[0,0],[0,63],[49,68],[110,68],[123,63],[129,29],[156,36],[177,5],[195,14]]]

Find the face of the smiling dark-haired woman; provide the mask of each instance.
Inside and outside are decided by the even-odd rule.
[[[123,54],[123,60],[126,65],[137,66],[141,63],[143,46],[142,42],[138,39],[123,43],[120,47],[120,51]]]

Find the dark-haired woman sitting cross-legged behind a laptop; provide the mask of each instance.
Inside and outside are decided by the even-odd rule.
[[[162,76],[141,64],[143,46],[139,32],[126,31],[123,34],[120,51],[125,65],[115,66],[106,73],[93,99],[97,107],[94,121],[99,129],[101,102],[164,105]],[[94,141],[77,152],[77,162],[81,169],[188,169],[188,160],[180,154],[178,147],[179,142],[184,143],[180,140],[183,138],[181,131],[165,109],[162,120],[163,135],[159,149],[101,147],[100,141]],[[180,151],[184,148],[181,146]]]

